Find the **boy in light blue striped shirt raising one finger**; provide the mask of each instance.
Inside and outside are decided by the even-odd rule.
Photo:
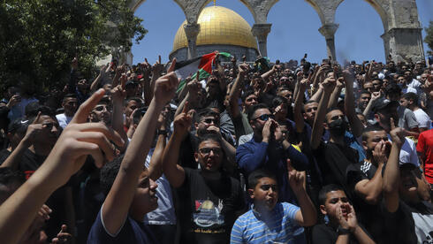
[[[290,187],[299,207],[278,201],[277,178],[265,170],[248,177],[248,194],[254,204],[233,225],[231,243],[297,243],[296,225],[315,225],[315,205],[305,188],[305,172],[297,172],[287,160]]]

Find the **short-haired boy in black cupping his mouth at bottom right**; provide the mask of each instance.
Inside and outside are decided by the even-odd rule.
[[[358,224],[343,187],[334,184],[323,187],[319,202],[320,211],[330,221],[313,227],[312,243],[375,243]]]

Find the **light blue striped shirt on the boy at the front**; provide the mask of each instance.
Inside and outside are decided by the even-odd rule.
[[[294,243],[293,237],[303,231],[295,220],[298,206],[277,202],[267,214],[253,207],[234,223],[230,243]]]

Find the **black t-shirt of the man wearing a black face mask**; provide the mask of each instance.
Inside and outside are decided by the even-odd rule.
[[[322,172],[323,185],[338,184],[348,193],[346,170],[350,164],[358,162],[358,151],[348,145],[341,146],[334,142],[321,141],[319,147],[313,150],[313,154]]]

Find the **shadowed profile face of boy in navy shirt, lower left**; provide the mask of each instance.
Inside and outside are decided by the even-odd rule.
[[[156,187],[158,187],[158,185],[156,185],[155,181],[148,178],[148,172],[142,172],[131,205],[133,213],[143,216],[152,210],[156,210],[158,207]]]

